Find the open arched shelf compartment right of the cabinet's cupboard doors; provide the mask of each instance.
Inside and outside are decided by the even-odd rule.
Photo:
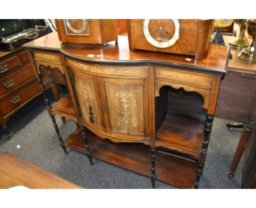
[[[169,86],[156,97],[156,146],[188,154],[199,159],[205,137],[207,110],[203,98],[195,92]]]

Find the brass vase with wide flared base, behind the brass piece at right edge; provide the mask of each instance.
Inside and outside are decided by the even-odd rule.
[[[229,41],[231,47],[242,49],[248,47],[251,42],[246,38],[246,20],[245,19],[235,19],[233,20],[240,27],[240,34],[233,40]]]

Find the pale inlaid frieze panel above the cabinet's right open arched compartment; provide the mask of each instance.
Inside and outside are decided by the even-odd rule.
[[[212,87],[213,81],[213,75],[211,74],[158,67],[155,68],[155,77],[208,89]]]

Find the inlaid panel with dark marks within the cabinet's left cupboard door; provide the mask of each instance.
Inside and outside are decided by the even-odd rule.
[[[74,79],[83,120],[101,127],[93,81],[78,75],[74,75]]]

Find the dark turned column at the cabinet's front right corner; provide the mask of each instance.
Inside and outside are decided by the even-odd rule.
[[[214,118],[214,115],[207,114],[207,119],[205,124],[205,139],[203,140],[202,148],[200,151],[194,188],[198,188],[199,181],[203,172],[203,167],[205,166],[205,158],[206,158],[206,153],[207,153],[210,135],[212,131],[213,118]]]

